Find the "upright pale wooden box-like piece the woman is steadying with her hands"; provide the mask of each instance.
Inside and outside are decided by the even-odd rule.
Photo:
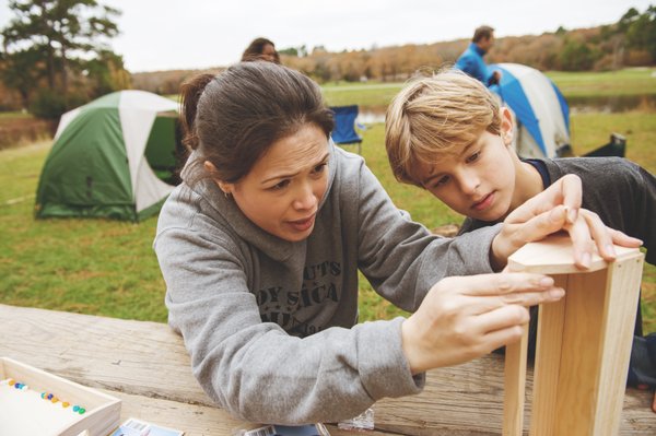
[[[566,292],[540,307],[530,435],[619,432],[644,255],[616,251],[614,262],[594,256],[590,269],[581,271],[570,238],[552,236],[508,259],[512,271],[553,274]]]

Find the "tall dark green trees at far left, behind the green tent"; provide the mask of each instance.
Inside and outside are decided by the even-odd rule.
[[[44,118],[131,86],[122,57],[109,47],[120,11],[95,0],[10,0],[0,30],[0,109]]]

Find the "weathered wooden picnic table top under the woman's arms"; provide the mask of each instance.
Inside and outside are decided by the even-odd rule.
[[[191,375],[181,338],[167,325],[0,305],[0,356],[11,357],[122,401],[121,422],[137,417],[187,436],[232,436],[253,423],[216,406]],[[532,373],[527,374],[525,433]],[[628,389],[621,435],[656,435],[652,392]],[[503,357],[431,370],[422,393],[374,405],[364,435],[499,435]],[[333,436],[363,433],[328,425]]]

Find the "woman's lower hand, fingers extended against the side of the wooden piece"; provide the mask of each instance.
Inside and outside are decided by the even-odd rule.
[[[522,337],[528,306],[564,295],[542,274],[497,273],[446,278],[401,327],[412,374],[457,365]]]

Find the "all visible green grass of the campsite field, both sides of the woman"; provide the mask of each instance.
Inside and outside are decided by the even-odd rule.
[[[589,79],[596,80],[596,79]],[[584,81],[585,82],[585,81]],[[643,85],[648,92],[653,84]],[[399,84],[330,85],[330,104],[385,105]],[[395,87],[396,86],[396,87]],[[338,97],[339,96],[339,97]],[[338,102],[337,98],[342,98]],[[656,113],[575,114],[572,143],[582,154],[608,140],[611,131],[628,138],[628,157],[656,173]],[[104,220],[33,219],[34,192],[49,142],[0,151],[0,303],[165,321],[165,293],[151,244],[156,219],[140,224]],[[429,228],[461,217],[417,188],[399,185],[388,168],[384,126],[364,132],[363,155],[395,203]],[[389,318],[399,311],[361,285],[361,320]],[[645,330],[656,331],[656,268],[644,273]]]

